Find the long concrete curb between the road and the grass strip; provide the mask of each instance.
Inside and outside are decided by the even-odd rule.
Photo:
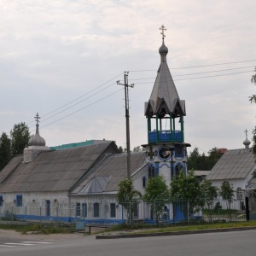
[[[96,239],[137,238],[137,237],[150,237],[150,236],[180,236],[180,235],[244,231],[244,230],[256,230],[256,226],[241,227],[241,228],[210,229],[210,230],[170,231],[170,232],[145,233],[145,234],[135,233],[135,234],[117,234],[117,235],[96,235]]]

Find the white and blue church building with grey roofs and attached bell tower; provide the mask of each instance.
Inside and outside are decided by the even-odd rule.
[[[131,179],[142,195],[148,179],[163,175],[170,185],[178,172],[187,174],[187,147],[180,100],[166,62],[164,26],[159,49],[160,67],[148,102],[145,103],[148,142],[143,151],[131,153]],[[143,117],[142,117],[143,118]],[[47,147],[39,134],[30,139],[24,154],[15,156],[0,172],[0,215],[14,212],[18,218],[87,222],[123,222],[125,212],[116,201],[118,184],[127,177],[127,154],[114,141],[91,140]],[[173,219],[167,206],[168,219]],[[134,218],[150,219],[148,206]]]

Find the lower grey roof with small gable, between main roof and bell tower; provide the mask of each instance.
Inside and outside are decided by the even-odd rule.
[[[126,154],[109,155],[89,175],[86,175],[71,193],[90,194],[117,191],[119,182],[127,177],[126,159]],[[131,154],[131,177],[145,166],[147,166],[145,152]]]

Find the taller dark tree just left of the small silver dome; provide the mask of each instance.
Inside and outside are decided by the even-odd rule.
[[[23,153],[29,141],[29,137],[30,132],[24,122],[14,125],[14,128],[10,131],[12,156]]]

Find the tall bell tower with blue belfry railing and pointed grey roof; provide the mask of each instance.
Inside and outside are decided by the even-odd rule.
[[[160,27],[160,67],[148,102],[145,116],[148,122],[146,149],[148,178],[156,175],[166,177],[170,184],[178,172],[187,174],[187,147],[184,143],[183,118],[186,115],[185,101],[180,100],[166,62],[168,48],[165,45],[165,26]]]

